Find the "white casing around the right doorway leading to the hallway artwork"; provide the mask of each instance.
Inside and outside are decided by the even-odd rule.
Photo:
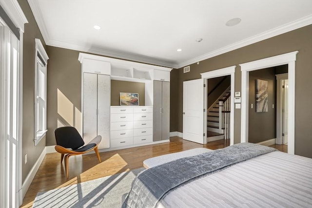
[[[242,73],[241,142],[248,142],[249,72],[288,64],[288,153],[294,154],[295,61],[298,51],[239,64]]]

